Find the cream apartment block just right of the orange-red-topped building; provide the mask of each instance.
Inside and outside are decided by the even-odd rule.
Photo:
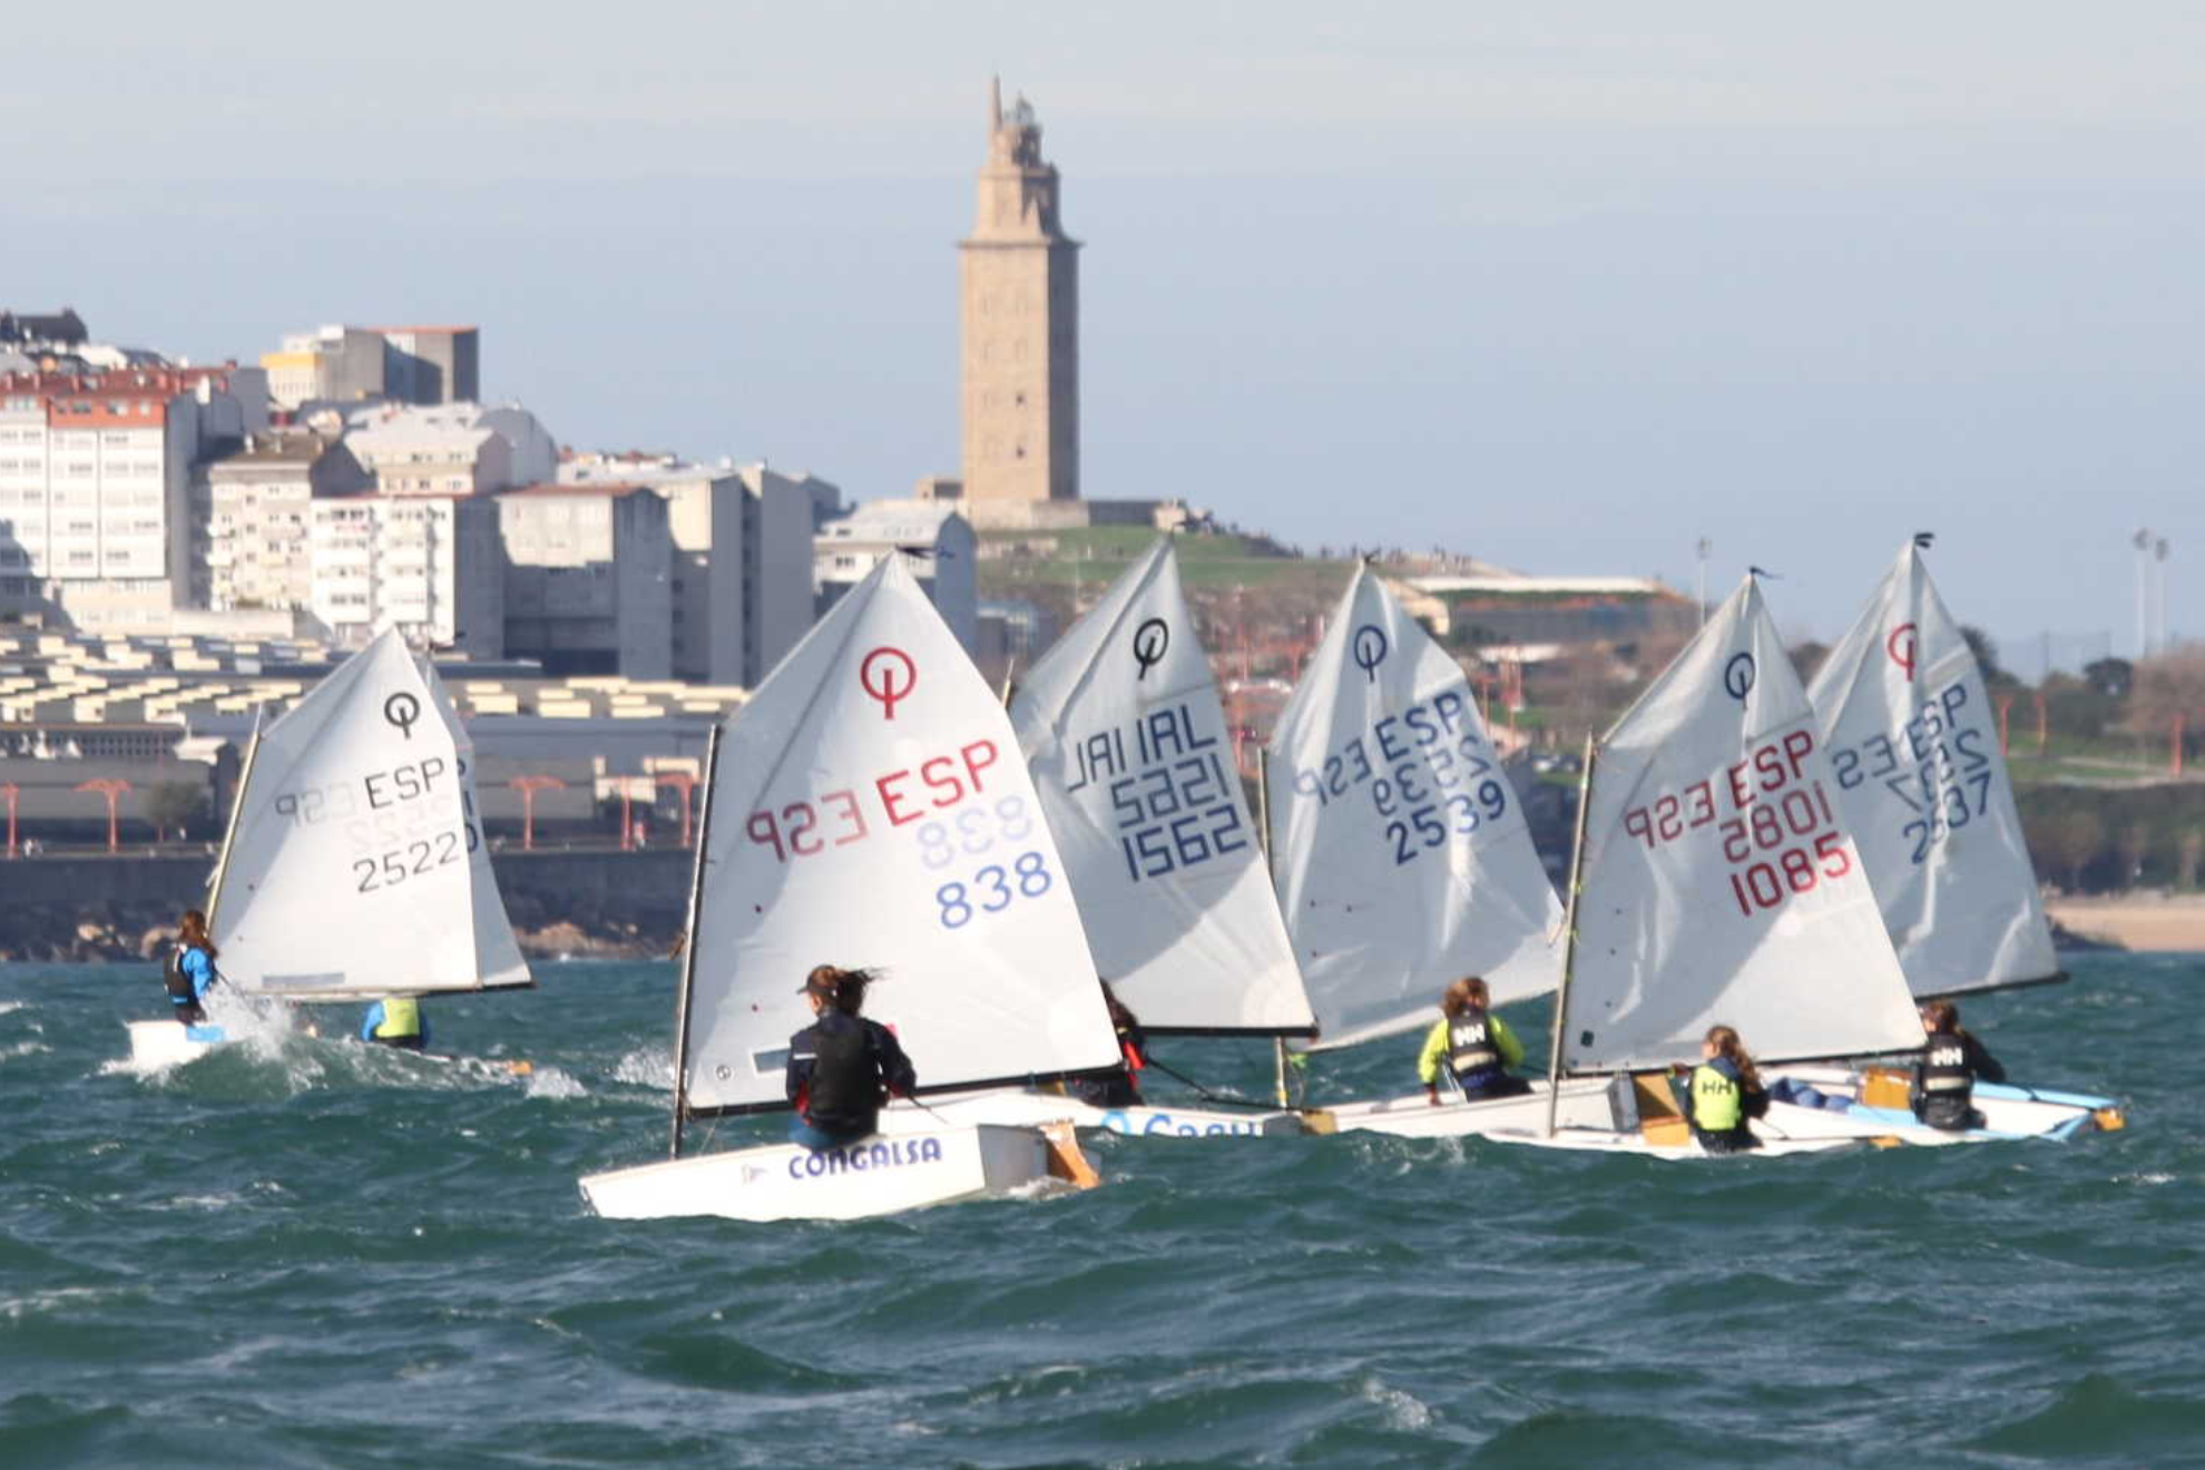
[[[351,450],[309,432],[251,434],[203,465],[205,606],[214,613],[313,606],[313,500],[373,483]]]

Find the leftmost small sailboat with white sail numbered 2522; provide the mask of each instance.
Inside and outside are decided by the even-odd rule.
[[[214,994],[368,1001],[529,985],[472,767],[437,670],[397,630],[256,725],[207,895]],[[229,1040],[220,1023],[128,1025],[139,1067]]]

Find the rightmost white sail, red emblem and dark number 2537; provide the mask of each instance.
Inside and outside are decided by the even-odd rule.
[[[1914,994],[2053,976],[1998,712],[1912,542],[1808,696]]]

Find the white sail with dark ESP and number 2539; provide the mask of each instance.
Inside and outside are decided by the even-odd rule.
[[[1464,974],[1555,987],[1561,904],[1462,668],[1367,569],[1272,732],[1270,811],[1323,1045],[1424,1025]]]

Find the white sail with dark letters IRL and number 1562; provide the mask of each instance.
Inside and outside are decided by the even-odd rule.
[[[1301,972],[1158,538],[1010,705],[1111,990],[1151,1031],[1308,1031]]]

